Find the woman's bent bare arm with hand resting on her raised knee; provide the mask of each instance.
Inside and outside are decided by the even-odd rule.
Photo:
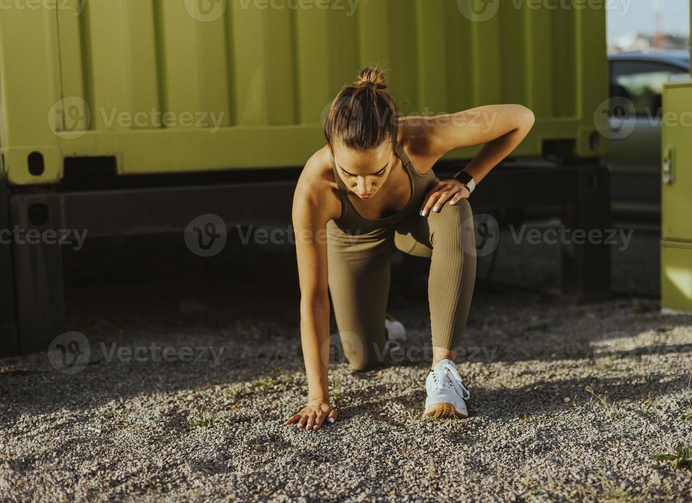
[[[428,118],[430,119],[430,118]],[[486,174],[518,147],[534,126],[534,113],[520,104],[491,104],[435,116],[427,136],[427,153],[439,159],[447,152],[484,143],[464,172],[479,183]],[[454,204],[469,192],[455,179],[441,180],[424,200],[422,214],[439,211],[448,199]]]

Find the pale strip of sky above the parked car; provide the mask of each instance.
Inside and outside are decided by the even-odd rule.
[[[690,0],[608,0],[608,44],[632,31],[651,34],[655,29],[655,4],[662,8],[666,33],[689,35]]]

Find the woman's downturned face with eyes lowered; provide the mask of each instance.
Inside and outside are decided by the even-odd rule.
[[[394,165],[394,149],[384,143],[377,149],[356,152],[334,145],[336,170],[347,188],[361,199],[370,199],[387,180]]]

